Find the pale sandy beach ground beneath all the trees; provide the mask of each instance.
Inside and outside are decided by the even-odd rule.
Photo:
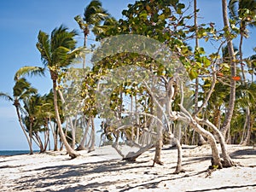
[[[152,167],[154,149],[121,160],[110,147],[70,160],[65,152],[0,157],[0,191],[256,191],[256,148],[228,145],[241,166],[209,172],[208,145],[183,146],[183,169],[173,174],[177,149],[166,146],[163,166]],[[125,148],[124,150],[127,150]]]

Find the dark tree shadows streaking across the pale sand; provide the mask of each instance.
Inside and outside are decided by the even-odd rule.
[[[176,152],[174,152],[176,154]],[[253,149],[236,150],[230,156],[234,159],[241,158],[243,155],[255,155]],[[210,156],[184,158],[183,166],[196,163],[202,160],[209,160]],[[172,174],[174,166],[170,166],[170,174],[157,172],[152,169],[152,164],[148,161],[126,162],[123,160],[102,160],[98,162],[83,163],[79,165],[60,165],[46,166],[43,168],[32,169],[26,172],[38,172],[33,174],[35,177],[21,177],[17,180],[15,190],[26,191],[105,191],[109,186],[114,189],[126,191],[131,189],[151,189],[159,187],[159,183],[176,180],[183,177],[193,177],[207,172],[189,172],[179,175]],[[174,165],[174,164],[173,164]],[[146,168],[146,169],[145,169]],[[207,167],[206,167],[207,168]],[[146,170],[146,172],[145,172]],[[143,182],[138,182],[136,178],[125,177],[126,172],[143,176]],[[25,172],[25,173],[26,173]],[[115,177],[115,172],[119,172],[120,177]],[[99,174],[100,173],[100,174]],[[124,177],[121,177],[122,174]],[[29,174],[28,174],[29,175]],[[109,177],[110,176],[110,177]],[[113,176],[113,177],[112,177]],[[110,178],[108,181],[106,178]],[[144,178],[145,177],[145,178]],[[86,179],[86,180],[85,180]],[[55,186],[54,188],[52,186]],[[201,189],[196,191],[210,191],[218,189],[242,189],[245,187],[255,187],[253,185],[244,186],[224,186],[216,189]],[[192,191],[190,191],[192,192]]]

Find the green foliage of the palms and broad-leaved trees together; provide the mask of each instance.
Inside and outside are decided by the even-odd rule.
[[[119,20],[109,16],[108,12],[102,8],[100,1],[92,0],[84,9],[84,17],[77,15],[74,19],[84,33],[84,46],[86,46],[85,41],[90,32],[95,33],[96,40],[104,39],[104,44],[107,44],[105,47],[102,44],[101,48],[94,53],[92,57],[92,60],[95,61],[93,67],[91,69],[89,67],[85,68],[84,71],[70,70],[69,68],[71,63],[82,56],[84,57],[82,54],[84,54],[85,50],[76,49],[77,42],[74,38],[78,35],[78,32],[74,30],[69,32],[66,26],[56,27],[51,34],[40,31],[38,32],[36,46],[41,54],[44,67],[20,68],[15,74],[16,82],[13,96],[1,92],[0,97],[12,102],[16,101],[15,104],[19,105],[19,107],[22,101],[26,112],[26,115],[23,115],[23,122],[26,128],[32,125],[34,134],[39,131],[45,131],[49,119],[55,121],[53,95],[52,93],[46,96],[36,95],[37,90],[33,89],[31,84],[22,77],[25,75],[44,75],[45,69],[48,67],[51,78],[57,80],[59,84],[57,89],[63,92],[67,90],[65,108],[69,109],[68,113],[66,113],[67,111],[62,113],[63,108],[59,107],[62,123],[64,121],[63,115],[71,116],[78,113],[78,111],[83,113],[86,118],[99,115],[111,121],[112,115],[116,115],[123,122],[128,122],[134,119],[129,119],[129,116],[122,114],[127,109],[125,108],[124,100],[127,98],[132,100],[132,98],[136,97],[137,108],[143,113],[154,113],[154,101],[145,84],[143,84],[143,80],[153,79],[153,77],[172,79],[174,67],[165,65],[166,63],[163,61],[172,63],[178,60],[185,67],[190,79],[199,79],[199,101],[201,102],[206,99],[207,93],[212,86],[212,74],[217,74],[217,83],[207,102],[206,111],[199,115],[205,115],[215,125],[219,125],[224,120],[224,113],[229,103],[231,79],[230,55],[223,42],[234,39],[239,34],[248,38],[247,26],[255,26],[256,18],[254,0],[230,0],[229,8],[231,31],[227,27],[217,30],[212,22],[198,26],[190,24],[191,19],[194,18],[188,14],[185,4],[180,3],[178,0],[136,1],[133,4],[128,4],[127,9],[122,11],[122,19]],[[200,12],[200,10],[197,10],[197,12]],[[152,38],[165,44],[166,47],[158,48],[154,44],[150,44],[151,42],[134,42],[134,39],[129,39],[129,37],[123,38],[123,40],[125,39],[125,44],[119,41],[118,38],[116,38],[114,44],[106,40],[109,37],[125,34]],[[204,44],[200,47],[195,47],[194,43],[192,43],[195,37],[203,40]],[[119,46],[116,46],[116,44],[119,44]],[[214,52],[208,53],[205,50],[206,44],[219,45],[219,47]],[[193,49],[194,47],[195,49]],[[165,54],[158,55],[156,53],[158,49]],[[234,49],[237,52],[236,47]],[[220,54],[221,50],[222,55]],[[238,55],[236,56],[238,58]],[[237,58],[236,62],[238,62]],[[230,132],[232,137],[237,137],[241,132],[242,127],[239,125],[244,123],[242,120],[245,117],[244,108],[249,107],[252,110],[255,108],[255,84],[253,82],[253,75],[256,74],[255,55],[251,55],[243,61],[247,64],[247,74],[251,75],[252,80],[247,84],[237,82],[235,119],[231,122],[234,126],[232,126]],[[118,68],[131,66],[137,66],[142,71],[144,70],[145,73],[132,73],[134,71],[131,70],[132,75],[137,79],[131,79],[129,75],[125,79],[124,73],[113,74]],[[237,67],[238,72],[239,70]],[[153,77],[146,75],[148,71]],[[139,77],[142,74],[145,74],[143,76],[144,79]],[[112,78],[109,78],[111,75]],[[116,77],[113,77],[114,75]],[[106,77],[109,79],[106,79]],[[121,82],[118,80],[120,77],[122,78]],[[105,92],[106,95],[110,95],[108,104],[114,114],[108,110],[104,111],[104,113],[98,110],[98,106],[102,103],[97,103],[99,100],[96,98],[96,90],[97,86],[104,80],[105,86],[109,89],[113,88],[110,84],[116,85],[111,93],[109,91]],[[157,82],[156,84],[165,84],[160,79],[154,80]],[[189,91],[195,90],[189,87]],[[177,95],[175,101],[172,102],[172,108],[179,109],[177,106],[179,100],[180,96]],[[83,103],[81,104],[80,101],[83,101]],[[58,98],[58,105],[61,105],[60,98]],[[137,123],[139,125],[148,124],[143,115],[138,115]],[[112,142],[116,136],[115,134],[117,134],[115,132],[117,127],[118,124],[115,126],[108,125],[108,130],[105,127],[106,129],[102,134],[105,134],[108,140]],[[81,132],[82,130],[79,128],[76,136],[78,141],[80,140]],[[127,137],[131,137],[131,127],[121,132],[126,133]],[[67,131],[67,133],[69,135],[67,139],[70,140],[71,132]],[[69,142],[71,143],[71,140]]]

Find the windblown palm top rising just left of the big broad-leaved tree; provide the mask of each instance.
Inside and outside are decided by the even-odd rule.
[[[87,38],[90,30],[97,32],[97,26],[108,17],[108,12],[102,8],[102,3],[98,0],[92,0],[90,4],[84,9],[84,18],[80,15],[75,16],[80,29],[84,33],[84,48],[86,48]],[[85,68],[85,58],[83,61],[83,68]]]

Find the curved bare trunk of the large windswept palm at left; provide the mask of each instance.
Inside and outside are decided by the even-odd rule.
[[[62,130],[61,127],[61,118],[60,118],[60,113],[59,113],[59,109],[58,109],[58,102],[57,102],[57,91],[56,91],[56,86],[57,86],[57,81],[56,81],[56,77],[55,77],[55,72],[50,71],[51,73],[51,79],[53,82],[53,94],[54,94],[54,105],[55,105],[55,118],[57,121],[57,125],[58,125],[58,130],[60,132],[61,135],[61,141],[64,144],[66,150],[67,150],[67,154],[69,154],[69,156],[73,159],[76,158],[77,156],[79,156],[79,154],[70,147],[70,145],[67,143],[67,139],[66,136]]]

